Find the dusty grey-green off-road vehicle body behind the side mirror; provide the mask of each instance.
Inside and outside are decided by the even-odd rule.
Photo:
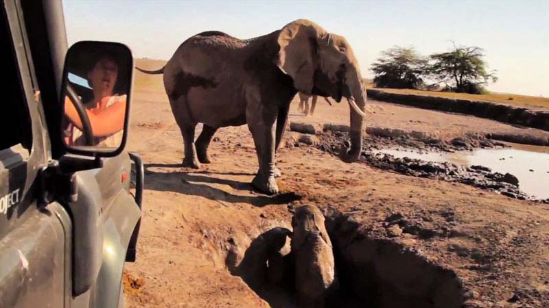
[[[100,159],[101,168],[75,172],[74,200],[45,198],[49,192],[43,183],[56,177],[42,171],[56,169],[56,159],[67,156],[60,129],[54,129],[67,51],[62,5],[3,4],[24,100],[6,103],[28,108],[32,146],[0,149],[0,307],[117,307],[128,242],[133,235],[137,239],[141,216],[129,193],[130,157],[122,152]],[[84,232],[82,221],[93,216]],[[92,279],[81,283],[77,295],[74,287],[86,276],[86,267]]]

